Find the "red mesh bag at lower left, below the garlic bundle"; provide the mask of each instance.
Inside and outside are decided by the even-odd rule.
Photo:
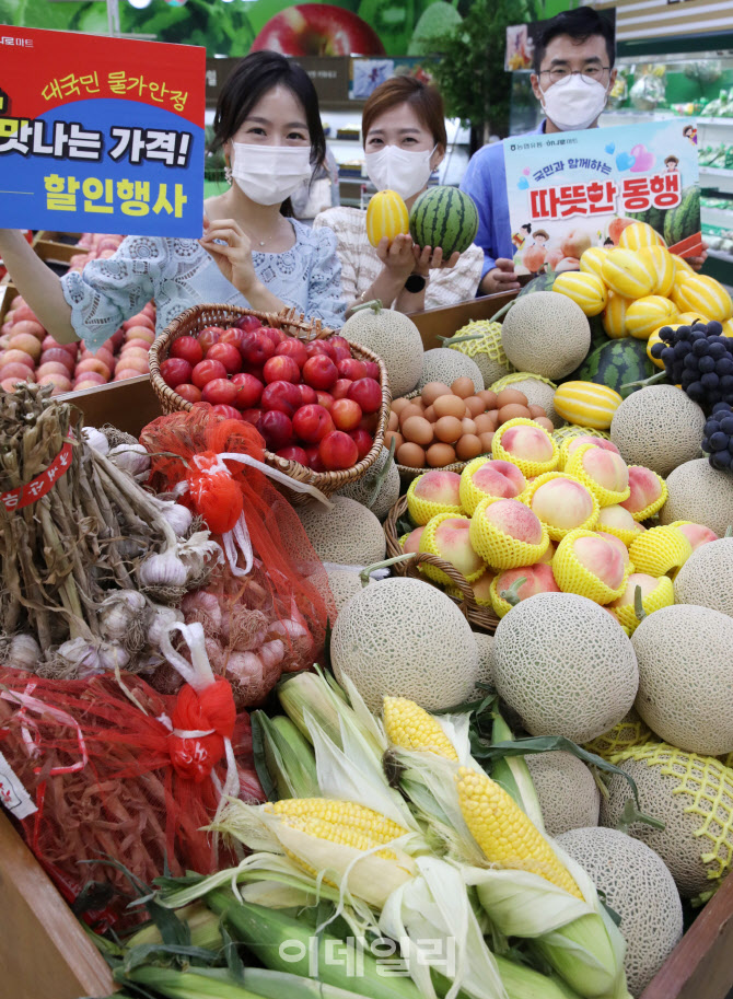
[[[234,861],[202,826],[222,792],[237,793],[237,777],[241,798],[264,794],[249,718],[236,715],[229,684],[186,683],[166,697],[129,674],[118,684],[110,676],[39,679],[7,667],[0,684],[0,752],[37,809],[20,822],[23,836],[69,903],[95,886],[104,902],[90,921],[142,918],[127,909],[135,894],[128,879],[105,859],[146,884],[166,862],[179,875]]]

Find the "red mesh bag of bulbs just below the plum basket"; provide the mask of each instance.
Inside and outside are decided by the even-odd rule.
[[[160,417],[140,442],[151,453],[152,488],[200,515],[226,556],[185,597],[185,619],[203,626],[211,666],[231,682],[236,705],[260,704],[282,672],[313,665],[335,618],[326,571],[270,478],[286,477],[264,464],[251,423],[222,420],[209,406]],[[166,690],[177,682],[165,667],[153,679]]]

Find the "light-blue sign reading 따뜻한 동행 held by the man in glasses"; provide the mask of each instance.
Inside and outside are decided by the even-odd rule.
[[[697,130],[689,118],[504,139],[517,274],[577,270],[648,222],[674,253],[701,248]]]

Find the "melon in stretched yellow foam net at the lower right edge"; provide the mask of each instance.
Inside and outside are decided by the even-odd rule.
[[[664,823],[663,829],[633,823],[629,835],[659,853],[683,897],[717,888],[733,858],[733,770],[712,756],[653,742],[627,750],[615,763],[636,781],[641,811]],[[601,825],[615,828],[631,789],[616,774],[607,788]]]

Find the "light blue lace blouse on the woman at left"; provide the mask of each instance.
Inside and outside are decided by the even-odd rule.
[[[289,221],[295,244],[284,253],[253,253],[257,276],[287,305],[338,328],[346,303],[336,236],[328,229],[314,232]],[[151,299],[159,334],[191,305],[248,305],[195,240],[128,236],[113,257],[91,260],[82,274],[65,275],[61,286],[71,324],[92,350]]]

